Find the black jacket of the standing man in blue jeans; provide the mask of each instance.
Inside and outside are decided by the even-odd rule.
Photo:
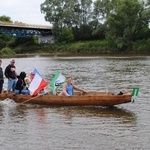
[[[6,78],[16,79],[15,71],[11,71],[11,68],[16,68],[15,66],[11,66],[10,64],[5,69],[5,76]]]

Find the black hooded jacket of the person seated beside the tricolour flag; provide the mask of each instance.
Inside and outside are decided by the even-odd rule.
[[[19,77],[18,77],[18,81],[16,83],[16,90],[19,90],[19,94],[21,94],[21,90],[24,88],[25,86],[25,82],[24,82],[24,78],[26,77],[26,73],[25,72],[21,72]]]

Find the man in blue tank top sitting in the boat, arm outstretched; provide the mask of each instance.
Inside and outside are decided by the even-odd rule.
[[[67,82],[63,84],[62,91],[58,94],[58,96],[73,96],[73,90],[77,90],[83,93],[87,93],[86,90],[79,88],[78,86],[72,83],[72,78],[67,77]]]

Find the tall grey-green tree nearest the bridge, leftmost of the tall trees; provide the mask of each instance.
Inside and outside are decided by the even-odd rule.
[[[72,26],[73,7],[70,0],[46,0],[41,4],[45,20],[53,25],[53,35],[60,41],[63,28]]]

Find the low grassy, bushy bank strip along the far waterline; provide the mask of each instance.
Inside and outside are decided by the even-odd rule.
[[[0,56],[14,55],[97,55],[97,54],[150,54],[150,39],[132,43],[126,49],[116,49],[107,41],[85,41],[76,43],[43,43],[34,45],[19,45],[17,47],[4,47]]]

